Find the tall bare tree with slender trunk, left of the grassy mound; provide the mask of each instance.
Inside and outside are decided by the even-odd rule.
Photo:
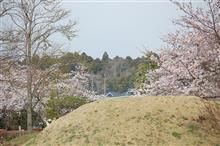
[[[7,12],[12,24],[6,31],[16,36],[9,37],[5,43],[8,46],[16,45],[15,55],[26,61],[26,89],[27,89],[27,128],[32,131],[32,101],[34,98],[33,75],[34,65],[32,58],[43,51],[54,49],[51,36],[63,34],[67,39],[75,36],[75,23],[67,21],[70,12],[61,8],[59,0],[13,0],[13,7]],[[62,23],[61,23],[62,22]],[[8,47],[7,47],[8,48]],[[54,51],[54,50],[53,50]],[[13,55],[14,55],[13,54]]]

